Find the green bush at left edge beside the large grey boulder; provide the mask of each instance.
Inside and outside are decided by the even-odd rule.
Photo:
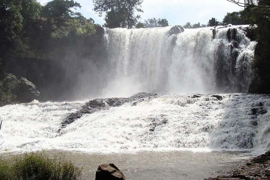
[[[16,101],[16,91],[20,85],[19,80],[13,74],[7,76],[0,82],[0,106],[11,104]]]

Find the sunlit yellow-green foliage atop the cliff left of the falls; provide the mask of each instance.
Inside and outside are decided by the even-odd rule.
[[[81,22],[78,19],[67,19],[64,26],[51,33],[52,38],[64,38],[70,35],[89,37],[95,35],[95,25],[91,22]]]

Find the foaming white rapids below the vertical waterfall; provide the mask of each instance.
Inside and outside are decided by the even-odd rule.
[[[4,126],[0,151],[59,149],[83,152],[249,150],[270,148],[270,98],[266,95],[162,95],[85,114],[58,133],[62,119],[82,102],[16,104],[0,107]],[[267,113],[252,125],[259,102]],[[167,121],[167,123],[160,123]],[[160,123],[150,131],[153,122]]]

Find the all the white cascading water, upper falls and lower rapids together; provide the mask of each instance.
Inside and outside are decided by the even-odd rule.
[[[255,78],[251,63],[256,42],[240,26],[185,29],[175,35],[171,28],[105,29],[108,60],[98,69],[104,72],[100,94],[177,95],[142,97],[119,107],[104,103],[103,109],[96,102],[98,111],[81,114],[76,112],[93,109],[84,102],[38,101],[0,107],[0,140],[5,141],[0,151],[269,149],[268,95],[221,94],[219,100],[213,94],[180,95],[247,92]],[[67,118],[72,113],[75,121]],[[64,128],[63,119],[70,122]]]

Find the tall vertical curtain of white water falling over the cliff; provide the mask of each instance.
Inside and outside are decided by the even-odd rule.
[[[241,26],[216,29],[214,38],[214,27],[168,35],[171,28],[105,29],[108,78],[102,94],[248,91],[256,42]]]

